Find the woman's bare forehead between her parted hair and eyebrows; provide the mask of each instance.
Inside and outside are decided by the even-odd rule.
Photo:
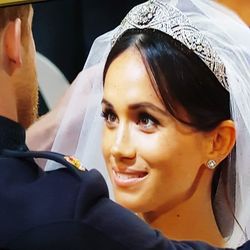
[[[141,55],[135,49],[126,50],[110,64],[105,78],[104,98],[127,104],[153,102],[164,108]]]

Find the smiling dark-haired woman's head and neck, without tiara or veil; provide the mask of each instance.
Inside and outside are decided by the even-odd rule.
[[[211,190],[228,167],[235,129],[229,94],[206,65],[160,31],[131,29],[104,68],[103,116],[116,201],[170,238],[222,246],[233,216],[225,211],[224,225],[216,223]]]

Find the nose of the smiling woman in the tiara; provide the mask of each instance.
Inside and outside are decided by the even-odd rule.
[[[128,126],[119,126],[115,135],[115,141],[111,147],[111,154],[115,158],[133,159],[135,157],[135,145],[133,144],[131,132]]]

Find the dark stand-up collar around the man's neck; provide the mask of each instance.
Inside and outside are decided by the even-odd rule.
[[[25,129],[19,123],[0,116],[0,150],[24,148]]]

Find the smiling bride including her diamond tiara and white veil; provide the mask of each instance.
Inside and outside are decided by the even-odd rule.
[[[94,43],[52,150],[102,169],[102,141],[118,203],[170,238],[238,244],[249,218],[249,44],[248,27],[212,1],[136,6]]]

